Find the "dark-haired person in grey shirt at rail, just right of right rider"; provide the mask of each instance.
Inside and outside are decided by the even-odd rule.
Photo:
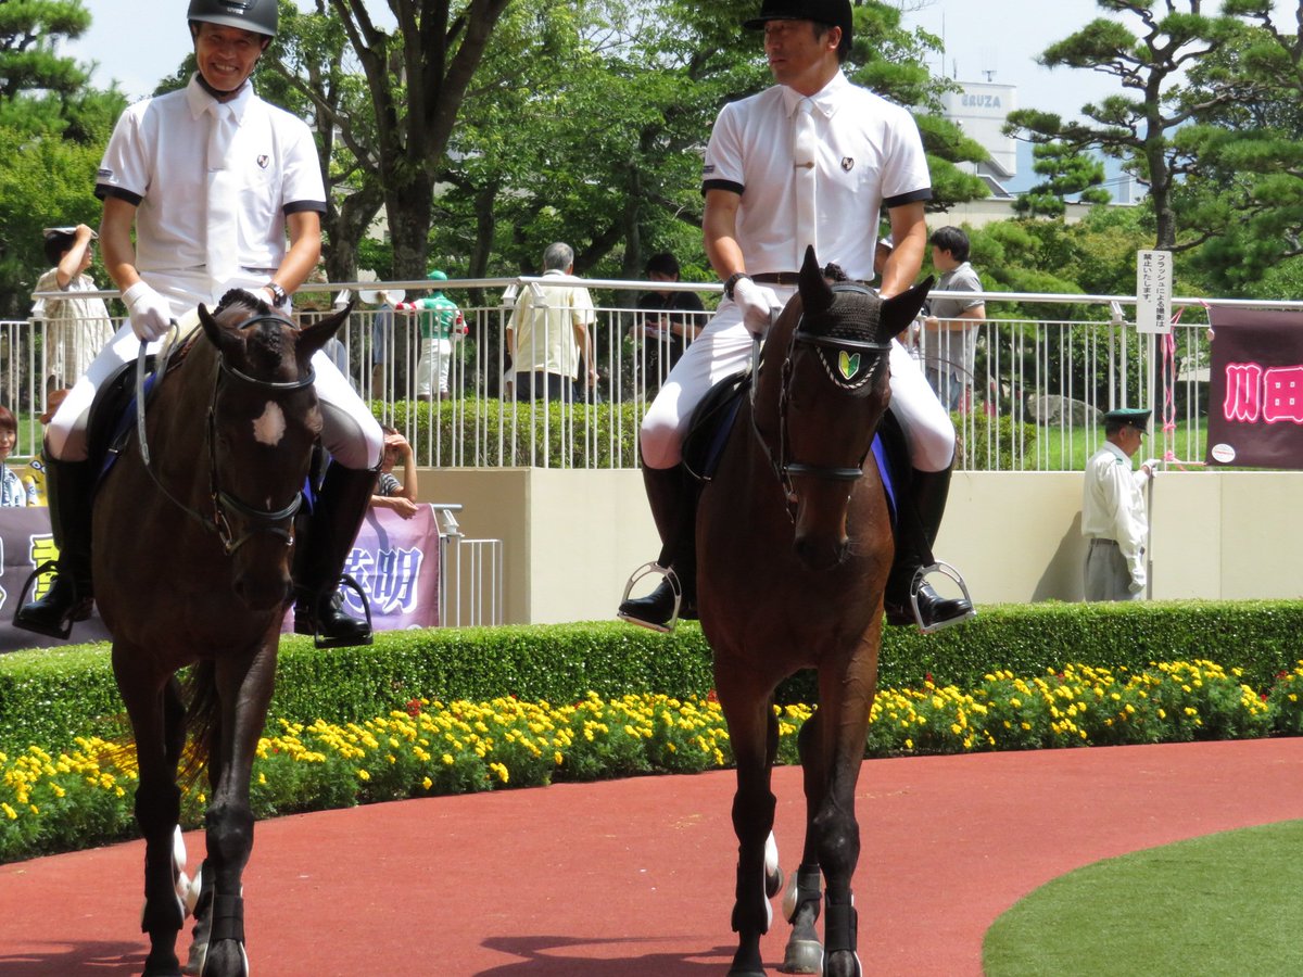
[[[956,227],[937,228],[928,238],[932,264],[941,272],[938,292],[981,292],[981,279],[968,263],[968,234]],[[923,320],[923,371],[946,410],[958,410],[972,386],[977,324],[986,304],[977,296],[933,298]]]

